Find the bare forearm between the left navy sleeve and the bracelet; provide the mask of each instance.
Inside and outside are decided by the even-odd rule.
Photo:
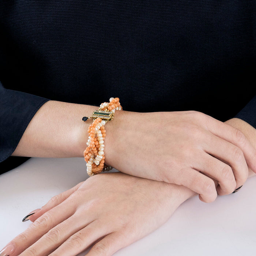
[[[26,128],[13,156],[83,157],[87,129],[83,122],[95,106],[60,101],[46,102]]]

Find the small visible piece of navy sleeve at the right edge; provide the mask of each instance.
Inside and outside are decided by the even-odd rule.
[[[235,117],[244,120],[256,129],[256,95]]]

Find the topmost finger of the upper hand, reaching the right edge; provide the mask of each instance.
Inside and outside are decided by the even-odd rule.
[[[256,173],[256,149],[245,135],[229,124],[222,123],[210,116],[207,117],[210,118],[209,125],[207,125],[208,131],[241,148],[248,166]]]

